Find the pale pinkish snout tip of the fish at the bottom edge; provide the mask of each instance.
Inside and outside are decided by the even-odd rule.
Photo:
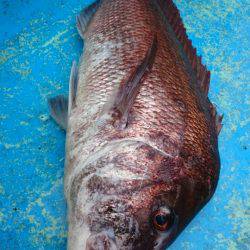
[[[90,235],[87,239],[86,250],[117,250],[116,243],[106,233]]]

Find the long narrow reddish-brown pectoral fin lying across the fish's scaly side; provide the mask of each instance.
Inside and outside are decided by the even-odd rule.
[[[147,54],[142,62],[137,66],[134,72],[129,76],[125,84],[122,84],[115,98],[112,111],[118,116],[118,127],[125,128],[129,112],[134,104],[135,98],[139,93],[142,79],[145,73],[149,71],[154,63],[157,51],[157,37],[154,36],[153,42],[149,47]]]

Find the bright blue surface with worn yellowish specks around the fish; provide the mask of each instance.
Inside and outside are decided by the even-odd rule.
[[[82,47],[75,16],[88,2],[0,1],[0,249],[66,248],[65,136],[47,97],[67,93]],[[175,2],[225,118],[217,192],[170,249],[250,249],[250,2]]]

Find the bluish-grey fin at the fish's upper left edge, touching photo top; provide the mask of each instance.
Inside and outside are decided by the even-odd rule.
[[[81,13],[77,16],[76,21],[77,21],[77,30],[79,35],[84,38],[84,33],[93,17],[95,14],[96,10],[98,9],[100,5],[101,0],[98,0],[91,4],[89,7],[83,9]]]

